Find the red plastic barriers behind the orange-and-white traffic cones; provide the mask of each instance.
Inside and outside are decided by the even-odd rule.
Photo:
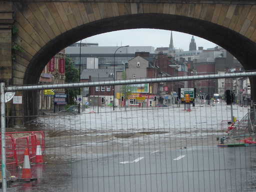
[[[22,136],[21,135],[25,136]],[[24,151],[28,148],[29,159],[32,161],[36,156],[36,143],[40,142],[42,153],[45,152],[44,132],[43,131],[24,131],[24,132],[6,132],[5,134],[5,151],[6,164],[18,164],[24,161]],[[1,157],[1,143],[0,143]]]

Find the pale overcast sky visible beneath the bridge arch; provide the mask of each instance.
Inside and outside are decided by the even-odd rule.
[[[188,50],[189,42],[192,35],[172,31],[173,45],[175,48],[182,48]],[[195,37],[196,46],[203,46],[203,48],[211,48],[216,46],[215,43],[206,39]],[[82,42],[96,42],[99,46],[153,46],[164,47],[169,46],[170,31],[162,29],[127,29],[118,30],[113,32],[106,32],[98,35],[94,35],[82,40]]]

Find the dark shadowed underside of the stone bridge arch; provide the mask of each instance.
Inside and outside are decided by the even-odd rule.
[[[222,46],[234,55],[245,69],[256,69],[253,64],[256,43],[233,30],[212,22],[185,16],[143,13],[100,19],[62,33],[49,41],[33,56],[25,72],[23,83],[37,83],[40,73],[48,60],[69,44],[92,35],[132,28],[157,28],[190,33]],[[255,80],[254,78],[250,80],[252,83],[252,95],[255,95],[253,91]]]

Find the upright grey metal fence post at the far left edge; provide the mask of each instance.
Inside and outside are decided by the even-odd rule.
[[[5,93],[4,82],[0,83],[0,102],[1,102],[1,151],[2,151],[2,191],[6,192],[6,156],[5,156]]]

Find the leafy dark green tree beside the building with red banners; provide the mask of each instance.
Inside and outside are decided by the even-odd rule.
[[[73,62],[69,57],[65,59],[65,81],[66,82],[78,82],[79,71],[75,68]],[[66,94],[68,95],[68,104],[74,104],[74,98],[79,93],[79,88],[66,88]]]

